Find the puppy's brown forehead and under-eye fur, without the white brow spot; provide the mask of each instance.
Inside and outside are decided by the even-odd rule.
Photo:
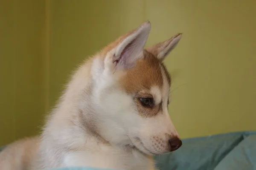
[[[162,102],[158,105],[154,105],[153,108],[145,108],[141,105],[138,97],[151,97],[150,88],[152,86],[158,86],[162,88],[163,78],[162,74],[166,72],[161,71],[161,62],[148,51],[144,51],[144,58],[137,62],[137,65],[120,80],[122,88],[128,94],[134,94],[134,101],[137,108],[143,117],[151,117],[157,113],[162,113]]]

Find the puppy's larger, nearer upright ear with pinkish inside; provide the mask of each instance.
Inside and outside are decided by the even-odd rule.
[[[117,68],[131,68],[138,59],[143,57],[143,49],[150,29],[151,24],[147,21],[116,46],[113,62],[116,62]]]

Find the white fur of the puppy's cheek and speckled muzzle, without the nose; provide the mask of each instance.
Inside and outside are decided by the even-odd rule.
[[[177,132],[168,113],[143,118],[132,96],[116,87],[108,88],[100,101],[97,129],[104,139],[116,145],[135,146],[148,155],[169,152],[168,140]]]

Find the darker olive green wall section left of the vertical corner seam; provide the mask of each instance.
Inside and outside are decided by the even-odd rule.
[[[0,3],[0,145],[34,135],[45,112],[44,0]]]

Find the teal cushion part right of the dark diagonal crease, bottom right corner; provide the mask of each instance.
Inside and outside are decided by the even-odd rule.
[[[256,135],[245,138],[214,170],[256,170]]]

